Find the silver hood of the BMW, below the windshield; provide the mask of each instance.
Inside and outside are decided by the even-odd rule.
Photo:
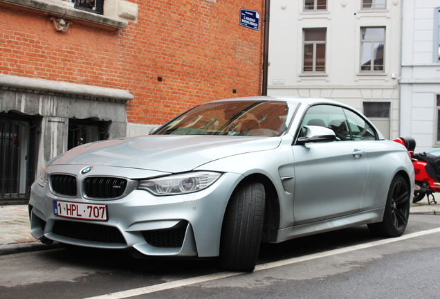
[[[185,172],[210,161],[275,149],[279,137],[152,135],[88,143],[47,165],[105,165]]]

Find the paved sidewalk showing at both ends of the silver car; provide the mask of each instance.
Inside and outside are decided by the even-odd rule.
[[[428,204],[425,197],[413,203],[410,214],[440,215],[440,197],[437,200],[437,204]],[[51,248],[59,248],[59,244],[48,246],[30,235],[27,205],[0,206],[0,255]]]

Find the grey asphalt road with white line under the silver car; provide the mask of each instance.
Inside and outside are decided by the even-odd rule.
[[[411,215],[398,239],[359,226],[264,244],[253,273],[56,249],[0,256],[0,298],[439,298],[439,253],[439,215]]]

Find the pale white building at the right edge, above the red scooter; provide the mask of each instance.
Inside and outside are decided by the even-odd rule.
[[[440,1],[403,3],[401,136],[416,152],[440,147]]]

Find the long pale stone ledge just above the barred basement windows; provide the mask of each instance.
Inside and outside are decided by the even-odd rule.
[[[107,87],[95,87],[91,85],[76,84],[69,82],[25,78],[15,75],[0,74],[0,89],[16,89],[32,93],[55,93],[75,95],[90,100],[113,100],[125,103],[133,100],[134,96],[129,91],[112,89]]]

